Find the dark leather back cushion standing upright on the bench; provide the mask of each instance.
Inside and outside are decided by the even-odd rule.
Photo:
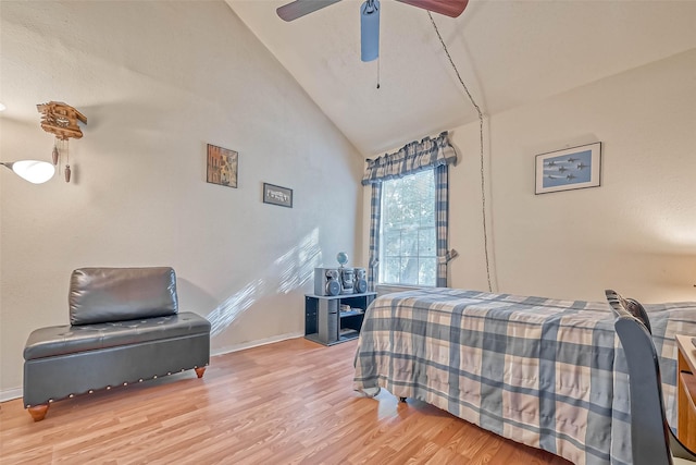
[[[169,267],[79,268],[69,301],[73,326],[174,315],[176,274]]]

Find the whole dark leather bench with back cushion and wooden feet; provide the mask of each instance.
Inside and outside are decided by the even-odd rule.
[[[49,404],[195,369],[210,360],[210,322],[178,313],[172,268],[82,268],[70,286],[70,326],[40,328],[24,347],[24,406]]]

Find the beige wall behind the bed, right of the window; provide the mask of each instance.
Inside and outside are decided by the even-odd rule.
[[[696,301],[696,50],[609,77],[486,124],[494,289],[645,302]],[[487,290],[478,124],[457,127],[451,285]],[[534,195],[534,157],[602,143],[601,186]]]

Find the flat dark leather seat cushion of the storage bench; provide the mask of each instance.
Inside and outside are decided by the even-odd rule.
[[[210,322],[191,311],[147,319],[40,328],[29,334],[24,359],[209,333]]]

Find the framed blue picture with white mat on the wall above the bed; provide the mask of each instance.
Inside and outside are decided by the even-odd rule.
[[[597,187],[601,173],[601,143],[536,156],[535,194]]]

